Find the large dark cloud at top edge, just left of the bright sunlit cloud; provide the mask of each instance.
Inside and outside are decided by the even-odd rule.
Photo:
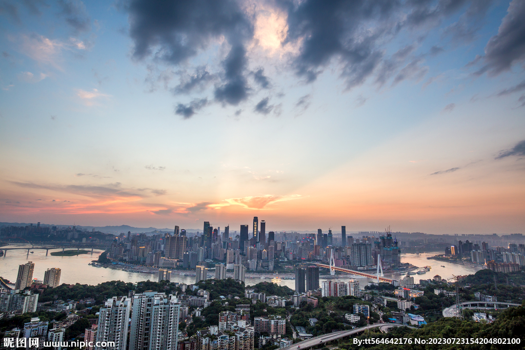
[[[233,0],[131,0],[127,10],[137,59],[153,55],[178,64],[214,38],[224,36],[235,45],[253,35],[249,20]]]

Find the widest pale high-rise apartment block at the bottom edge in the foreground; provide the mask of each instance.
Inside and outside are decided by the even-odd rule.
[[[180,307],[172,294],[135,294],[129,350],[177,350]]]

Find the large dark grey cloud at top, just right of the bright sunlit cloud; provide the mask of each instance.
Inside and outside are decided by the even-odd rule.
[[[390,32],[388,17],[396,1],[282,2],[288,11],[288,40],[302,39],[295,60],[297,75],[307,82],[317,79],[332,59],[341,63],[341,77],[347,88],[361,84],[379,65],[383,56],[375,43]],[[365,30],[366,21],[379,19],[374,30]]]

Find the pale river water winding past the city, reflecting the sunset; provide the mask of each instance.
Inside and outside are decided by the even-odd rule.
[[[22,248],[27,245],[17,245],[12,244],[9,248]],[[7,247],[6,247],[7,248]],[[101,250],[93,250],[93,254],[80,254],[73,257],[54,257],[51,255],[46,256],[45,250],[35,249],[32,250],[34,253],[27,254],[27,250],[17,249],[17,250],[8,250],[6,256],[0,257],[0,277],[7,279],[14,283],[16,281],[16,276],[18,273],[18,266],[25,264],[27,261],[33,261],[35,263],[35,270],[33,272],[33,278],[43,280],[44,272],[49,268],[60,268],[61,276],[60,283],[68,284],[91,284],[96,285],[98,283],[106,281],[124,281],[124,282],[139,282],[139,281],[156,281],[156,273],[137,273],[137,272],[127,272],[117,269],[109,268],[97,268],[88,265],[91,260],[97,260]],[[49,250],[51,251],[61,251],[61,249]],[[417,267],[431,266],[432,269],[425,274],[415,274],[413,275],[414,281],[417,283],[419,279],[429,279],[433,278],[436,274],[440,275],[444,279],[449,279],[453,275],[464,275],[464,274],[473,274],[476,271],[480,270],[481,267],[469,267],[459,264],[453,264],[444,261],[438,260],[427,260],[427,257],[432,257],[439,252],[425,252],[421,254],[415,253],[403,253],[401,254],[401,262],[408,262]],[[442,267],[445,266],[445,267]],[[175,272],[175,271],[174,271]],[[248,274],[249,275],[249,274]],[[386,275],[387,278],[400,279],[399,274],[390,274]],[[351,275],[346,277],[345,275],[338,275],[338,281],[349,281],[355,279]],[[320,276],[320,282],[325,281],[323,275]],[[178,273],[172,273],[171,275],[172,282],[192,284],[195,282],[195,277],[184,276]],[[272,281],[270,277],[266,278],[246,278],[246,285],[254,285],[262,281],[270,282]],[[295,289],[294,280],[273,280],[279,285],[286,285],[291,289]],[[366,285],[366,282],[372,281],[368,278],[359,278],[361,281],[361,288]]]

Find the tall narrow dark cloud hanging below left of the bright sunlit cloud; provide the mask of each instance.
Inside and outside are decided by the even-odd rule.
[[[217,101],[237,105],[248,97],[248,82],[244,76],[247,58],[246,50],[243,46],[233,47],[223,62],[224,81],[222,86],[215,89],[215,99]]]

